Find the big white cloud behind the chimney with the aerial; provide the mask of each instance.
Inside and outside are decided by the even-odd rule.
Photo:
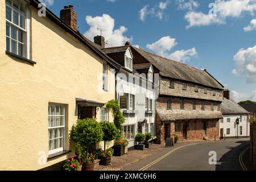
[[[94,36],[99,35],[100,32],[97,28],[102,28],[102,36],[105,37],[105,41],[108,42],[106,47],[123,46],[125,42],[131,42],[133,38],[127,38],[125,32],[127,28],[125,26],[120,26],[118,29],[114,30],[115,21],[108,14],[103,14],[102,16],[86,16],[86,23],[90,26],[89,30],[85,32],[84,36],[93,41]]]

